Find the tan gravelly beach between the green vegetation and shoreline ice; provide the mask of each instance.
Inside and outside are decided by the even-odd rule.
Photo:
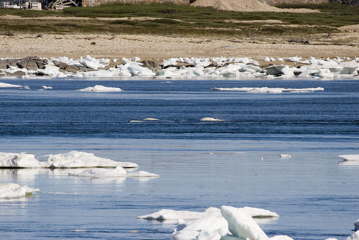
[[[351,33],[356,37],[359,33]],[[355,37],[355,36],[350,37]],[[343,36],[343,39],[344,36]],[[359,38],[357,38],[359,39]],[[340,40],[338,40],[340,41]],[[0,35],[0,57],[140,57],[162,60],[173,57],[359,57],[359,45],[326,42],[289,43],[279,39],[208,39],[153,35],[34,34]]]

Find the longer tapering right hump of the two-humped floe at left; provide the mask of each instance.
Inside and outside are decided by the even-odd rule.
[[[107,158],[96,157],[93,153],[77,151],[64,154],[50,154],[37,159],[44,168],[138,167],[136,163],[113,161]]]

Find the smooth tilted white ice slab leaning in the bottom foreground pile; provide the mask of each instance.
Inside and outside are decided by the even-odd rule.
[[[244,209],[222,206],[221,213],[228,221],[228,229],[234,236],[253,240],[268,239],[265,232]]]

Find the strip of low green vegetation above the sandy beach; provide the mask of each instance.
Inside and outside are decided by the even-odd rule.
[[[0,33],[116,33],[183,36],[285,36],[338,32],[337,27],[359,24],[359,6],[336,4],[281,5],[281,8],[319,9],[321,13],[231,12],[209,7],[174,4],[104,4],[71,7],[63,11],[0,9],[32,19],[1,19]],[[88,19],[36,19],[44,16],[87,17]],[[99,20],[97,17],[122,18]],[[130,17],[149,17],[131,20]],[[155,19],[151,19],[155,18]],[[241,22],[279,20],[283,23]],[[309,25],[309,26],[308,26]]]

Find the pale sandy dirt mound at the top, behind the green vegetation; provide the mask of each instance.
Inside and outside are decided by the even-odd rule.
[[[257,0],[197,0],[194,7],[213,7],[222,11],[237,12],[318,12],[311,9],[280,9]]]

